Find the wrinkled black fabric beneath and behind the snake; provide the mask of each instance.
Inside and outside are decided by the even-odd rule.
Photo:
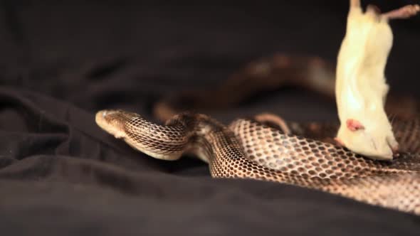
[[[372,1],[384,11],[415,2]],[[0,235],[418,235],[417,216],[212,179],[196,159],[152,159],[94,122],[104,108],[153,119],[159,97],[276,52],[334,61],[346,13],[347,1],[1,1]],[[392,91],[418,90],[419,22],[392,21]],[[335,104],[300,90],[211,115],[227,124],[267,111],[337,119]]]

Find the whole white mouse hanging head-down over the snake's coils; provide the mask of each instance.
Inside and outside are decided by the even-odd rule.
[[[389,87],[384,70],[393,35],[390,18],[409,18],[418,5],[379,14],[359,0],[350,0],[347,30],[337,58],[335,96],[340,129],[336,140],[347,149],[371,159],[392,160],[398,149],[384,111]]]

